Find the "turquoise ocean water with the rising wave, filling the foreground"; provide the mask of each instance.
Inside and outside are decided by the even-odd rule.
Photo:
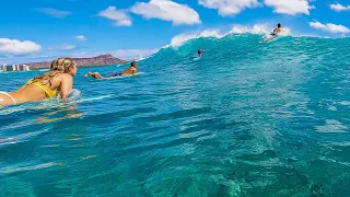
[[[348,196],[350,38],[260,39],[192,39],[130,78],[79,69],[71,104],[0,108],[0,196]]]

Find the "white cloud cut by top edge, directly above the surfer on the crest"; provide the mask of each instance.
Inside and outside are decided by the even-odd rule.
[[[265,4],[273,8],[273,12],[282,14],[306,14],[314,9],[307,0],[265,0]]]

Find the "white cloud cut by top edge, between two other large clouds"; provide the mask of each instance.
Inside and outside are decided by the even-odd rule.
[[[206,8],[218,9],[222,16],[235,15],[247,8],[259,5],[257,0],[198,0],[198,2]]]

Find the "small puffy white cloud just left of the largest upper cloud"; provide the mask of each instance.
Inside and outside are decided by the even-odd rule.
[[[131,26],[132,22],[126,10],[117,10],[116,7],[108,7],[106,10],[98,12],[102,18],[114,21],[115,26]]]

